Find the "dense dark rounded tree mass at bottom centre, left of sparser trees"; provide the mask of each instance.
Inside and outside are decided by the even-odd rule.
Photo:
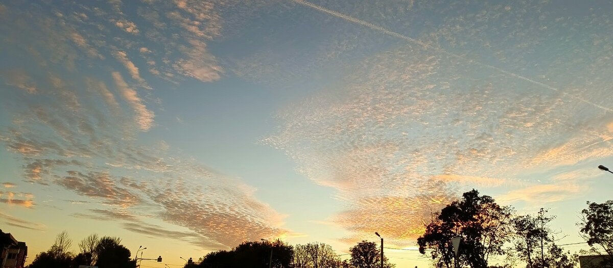
[[[270,262],[272,252],[272,262]],[[200,259],[197,267],[291,267],[294,249],[277,239],[274,242],[243,242],[230,251],[219,250],[208,253]]]

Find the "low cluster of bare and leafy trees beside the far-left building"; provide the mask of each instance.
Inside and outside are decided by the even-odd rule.
[[[119,237],[90,234],[79,242],[80,252],[70,251],[72,240],[66,231],[59,233],[49,250],[36,255],[28,268],[78,268],[80,265],[99,268],[134,268],[130,250],[121,245]]]

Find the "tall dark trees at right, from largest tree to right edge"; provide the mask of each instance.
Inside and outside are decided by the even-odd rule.
[[[613,267],[613,201],[590,203],[581,211],[580,235],[590,249],[583,255],[609,255],[595,267]],[[518,215],[511,206],[500,206],[491,196],[471,190],[462,199],[447,204],[432,214],[425,233],[417,239],[419,251],[430,255],[433,266],[452,267],[527,267],[573,268],[578,255],[563,250],[557,241],[560,232],[550,228],[555,216],[547,209]],[[460,238],[455,254],[454,237]],[[563,238],[563,237],[562,237]],[[503,264],[489,266],[492,258]]]

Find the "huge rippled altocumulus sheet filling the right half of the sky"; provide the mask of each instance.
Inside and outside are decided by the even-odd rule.
[[[547,2],[532,2],[529,8],[486,3],[474,9],[459,2],[432,1],[410,9],[382,10],[378,16],[364,7],[368,2],[330,5],[326,8],[342,9],[361,21],[334,15],[343,19],[329,26],[338,34],[335,43],[354,40],[357,45],[343,46],[331,55],[341,62],[349,56],[360,60],[339,64],[339,69],[349,70],[346,75],[316,84],[316,93],[281,110],[278,118],[283,125],[263,142],[286,152],[314,182],[337,189],[347,208],[333,220],[352,231],[346,240],[370,237],[385,218],[390,223],[388,238],[402,244],[420,234],[430,211],[476,185],[510,188],[500,197],[503,202],[568,199],[584,188],[576,182],[560,187],[531,181],[525,175],[613,155],[609,127],[613,117],[601,108],[606,102],[582,98],[607,95],[607,84],[613,83],[603,73],[613,67],[611,61],[586,60],[587,51],[608,50],[601,43],[611,42],[601,32],[613,28],[606,13],[565,18],[544,12],[550,8]],[[436,13],[432,18],[441,21],[406,28],[413,20],[424,20],[420,16],[424,12]],[[573,40],[580,33],[568,31],[569,24],[590,29],[593,35],[588,39],[598,41],[586,50]],[[357,54],[360,41],[370,42],[372,35],[361,35],[354,30],[358,26],[386,35],[388,49]],[[377,26],[397,29],[399,34]],[[505,28],[514,29],[513,34]],[[539,29],[547,29],[548,35]],[[517,37],[518,32],[522,37]],[[554,37],[562,40],[553,45],[554,51],[571,47],[578,54],[530,56],[528,51]],[[504,41],[493,45],[495,40]],[[271,51],[261,52],[267,53]],[[274,53],[278,58],[294,56]],[[257,62],[239,63],[241,75],[261,75]],[[266,72],[304,68],[281,63]],[[318,68],[313,64],[303,71],[318,75]],[[568,70],[573,70],[575,79],[569,78]],[[284,79],[296,83],[301,77],[294,73]]]

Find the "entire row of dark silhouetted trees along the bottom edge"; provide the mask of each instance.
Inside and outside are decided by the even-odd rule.
[[[558,245],[560,232],[550,223],[555,219],[547,209],[533,214],[517,214],[511,206],[500,206],[491,196],[477,190],[463,193],[462,199],[432,214],[425,232],[417,239],[419,252],[432,259],[436,268],[573,268],[578,255]],[[581,211],[580,235],[588,245],[582,255],[606,255],[595,267],[613,267],[613,200],[587,202]],[[457,254],[452,240],[459,238]],[[29,268],[134,268],[128,248],[118,237],[83,239],[76,255],[69,251],[72,241],[66,232],[58,234],[49,250],[39,253]],[[363,240],[349,248],[349,258],[341,260],[330,245],[313,242],[289,245],[282,240],[246,241],[231,250],[218,250],[190,262],[185,268],[378,268],[379,247]],[[608,256],[608,257],[607,257]],[[490,259],[504,259],[495,266]],[[383,256],[383,266],[394,268]]]

